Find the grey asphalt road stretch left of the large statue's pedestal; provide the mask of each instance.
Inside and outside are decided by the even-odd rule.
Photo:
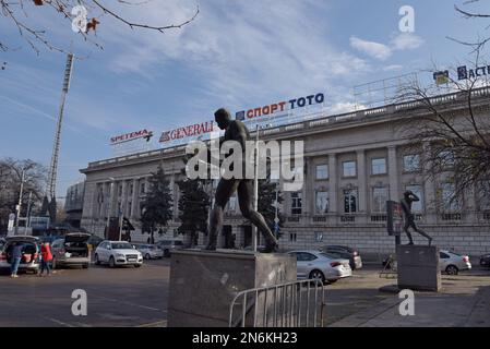
[[[169,260],[140,268],[92,265],[50,277],[0,275],[0,326],[165,326]],[[72,292],[87,296],[87,315],[72,314]]]

